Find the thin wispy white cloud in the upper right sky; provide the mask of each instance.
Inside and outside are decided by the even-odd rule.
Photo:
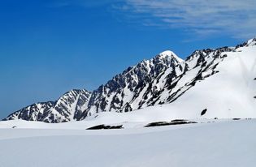
[[[141,15],[145,26],[182,28],[198,36],[225,32],[244,39],[256,35],[255,6],[255,0],[125,0],[114,7]]]

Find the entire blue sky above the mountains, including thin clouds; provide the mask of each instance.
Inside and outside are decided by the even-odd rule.
[[[93,90],[171,49],[236,45],[255,36],[254,0],[3,0],[0,118],[72,88]]]

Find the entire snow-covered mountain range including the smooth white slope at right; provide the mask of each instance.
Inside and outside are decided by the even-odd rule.
[[[202,49],[182,60],[171,51],[144,60],[93,92],[72,90],[5,120],[83,120],[101,112],[164,111],[172,118],[256,117],[256,38],[236,47]]]

